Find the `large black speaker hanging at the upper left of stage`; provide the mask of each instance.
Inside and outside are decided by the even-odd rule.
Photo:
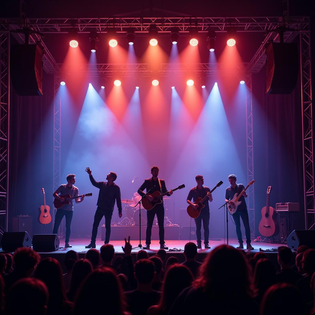
[[[18,95],[43,95],[43,49],[38,45],[11,45],[10,74]]]

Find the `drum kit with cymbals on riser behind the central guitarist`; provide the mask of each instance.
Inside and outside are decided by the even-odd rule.
[[[164,202],[164,209],[165,209],[165,217],[164,217],[164,226],[173,225],[173,223],[169,220],[167,217],[167,206],[166,202],[167,200],[170,200],[171,198],[163,198]],[[124,215],[119,220],[117,225],[123,225],[123,226],[139,226],[139,206],[135,208],[135,205],[137,202],[135,200],[131,199],[122,199],[121,203],[124,203],[125,206],[123,207]],[[142,208],[142,207],[141,207]],[[157,218],[154,219],[153,224],[157,224]],[[146,211],[145,209],[141,209],[141,226],[146,226]]]

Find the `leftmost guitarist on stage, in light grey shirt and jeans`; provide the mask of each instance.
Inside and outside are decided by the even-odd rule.
[[[67,175],[67,184],[60,185],[56,191],[53,193],[54,198],[59,199],[61,202],[65,201],[65,198],[60,197],[65,195],[70,195],[71,197],[76,197],[79,195],[79,190],[76,186],[74,186],[74,183],[76,182],[76,175],[69,174]],[[82,202],[84,199],[84,196],[81,198],[74,199],[76,203]],[[65,239],[65,247],[72,247],[69,244],[69,238],[71,233],[71,221],[72,221],[72,215],[73,215],[73,199],[69,200],[70,204],[65,204],[61,209],[57,209],[56,215],[55,215],[55,222],[54,222],[54,228],[53,228],[53,234],[58,233],[58,228],[60,226],[61,220],[63,216],[66,217],[66,239]]]

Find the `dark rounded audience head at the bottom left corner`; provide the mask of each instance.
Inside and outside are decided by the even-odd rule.
[[[5,313],[45,315],[48,296],[48,289],[43,281],[36,278],[20,279],[9,290]]]

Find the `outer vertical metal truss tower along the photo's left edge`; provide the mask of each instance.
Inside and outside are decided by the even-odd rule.
[[[10,33],[0,31],[0,235],[8,231]]]

